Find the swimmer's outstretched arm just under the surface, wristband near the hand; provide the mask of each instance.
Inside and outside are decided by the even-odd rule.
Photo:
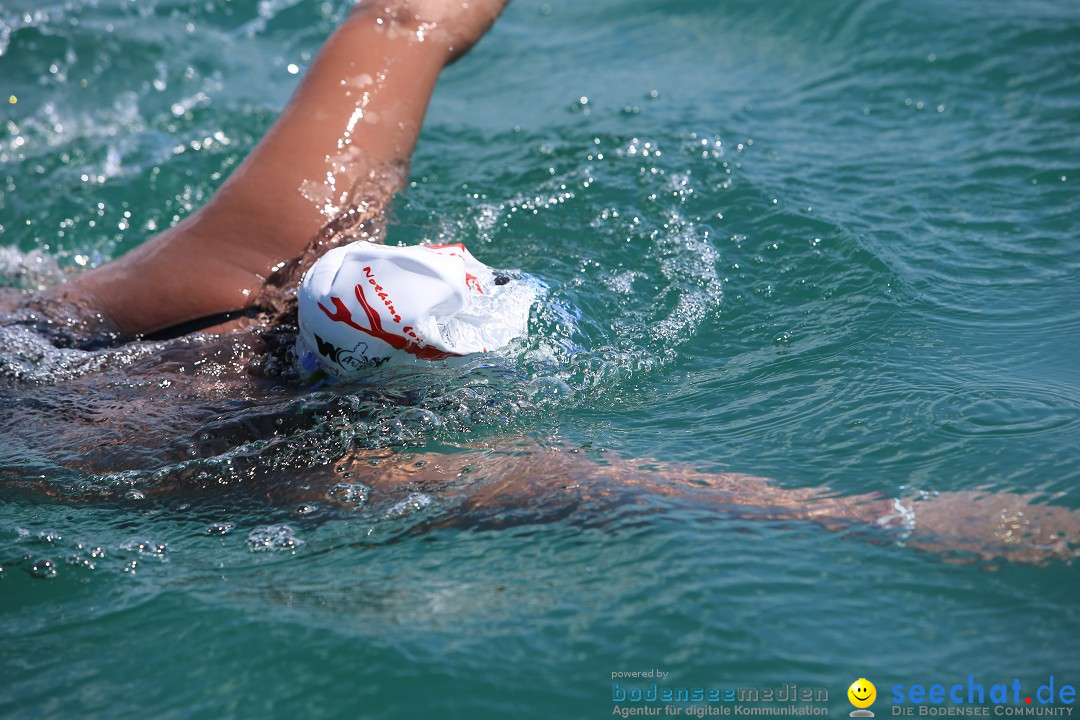
[[[835,495],[827,488],[784,488],[762,477],[701,473],[674,463],[629,460],[611,452],[503,441],[486,451],[423,456],[380,451],[349,461],[378,493],[431,489],[459,492],[449,524],[521,522],[572,514],[607,514],[656,498],[690,500],[729,517],[811,521],[868,540],[899,542],[954,561],[1071,560],[1080,544],[1080,513],[1036,504],[1010,492],[942,492],[897,501],[877,493]],[[377,472],[373,474],[373,460]],[[340,466],[341,470],[343,466]],[[448,488],[460,488],[448,490]],[[509,520],[505,520],[509,518]],[[595,517],[584,517],[594,521]],[[435,520],[437,525],[442,520]]]

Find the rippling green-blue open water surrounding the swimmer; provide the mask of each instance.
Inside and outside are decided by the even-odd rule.
[[[8,282],[105,261],[198,207],[346,6],[0,4]],[[137,417],[95,430],[69,417],[78,397],[5,388],[0,477],[65,492],[0,489],[0,716],[602,718],[611,674],[650,667],[826,687],[835,717],[859,677],[879,717],[895,683],[1077,684],[1075,565],[987,571],[660,499],[419,530],[458,511],[248,492],[287,487],[311,446],[260,446],[248,485],[220,459],[278,412],[334,416],[368,447],[524,435],[785,487],[1080,507],[1078,130],[1070,2],[516,1],[445,72],[390,230],[551,286],[511,379],[485,399],[437,376],[465,398],[437,423],[333,393],[308,400],[318,422],[261,395],[151,405],[179,439],[141,443]],[[122,466],[95,464],[95,439]],[[220,487],[78,497],[188,456]],[[253,552],[281,524],[299,544]]]

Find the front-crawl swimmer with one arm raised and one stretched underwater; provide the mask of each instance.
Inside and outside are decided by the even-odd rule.
[[[342,357],[341,352],[352,353],[347,363],[338,363],[341,371],[369,367],[366,345],[361,362],[354,352],[359,344],[323,337],[315,325],[309,326],[310,337],[297,352],[297,286],[320,258],[337,262],[357,252],[350,249],[357,247],[351,243],[381,242],[384,209],[404,181],[440,71],[481,38],[503,4],[359,4],[326,41],[278,122],[205,206],[113,262],[42,295],[16,299],[21,307],[4,324],[21,332],[22,354],[0,358],[10,391],[0,395],[0,433],[19,462],[3,471],[4,493],[85,501],[122,498],[132,489],[141,497],[221,491],[227,483],[214,475],[220,468],[207,473],[190,462],[192,457],[232,453],[230,466],[237,467],[244,463],[237,448],[284,437],[278,423],[282,418],[268,426],[257,416],[227,420],[222,406],[242,400],[257,406],[274,397],[283,382],[298,386],[288,368],[305,352],[314,354],[313,361],[332,376],[327,358]],[[373,250],[364,246],[363,252]],[[461,262],[464,273],[463,256]],[[315,275],[312,270],[309,277]],[[494,289],[497,279],[492,274],[485,282]],[[333,282],[328,288],[309,289],[309,309],[318,323],[340,320],[374,337],[373,315],[350,307],[348,291],[335,290]],[[463,308],[470,291],[451,287],[446,297],[464,298]],[[301,290],[301,303],[305,295]],[[359,295],[355,300],[360,302]],[[299,312],[305,335],[302,308]],[[350,320],[343,322],[347,312]],[[406,336],[396,337],[388,341],[393,351],[408,354],[409,348],[435,347],[432,337],[411,345]],[[35,344],[42,342],[64,352]],[[321,353],[324,345],[334,350]],[[465,354],[475,348],[436,350]],[[383,356],[389,351],[375,359]],[[43,367],[46,362],[55,365]],[[379,392],[369,389],[353,397],[377,404]],[[48,434],[24,439],[24,429],[42,425]],[[205,427],[214,433],[191,438],[195,429]],[[674,498],[734,517],[862,528],[870,538],[894,538],[972,559],[1071,559],[1080,540],[1077,513],[1031,504],[1030,498],[1012,493],[835,497],[827,488],[784,488],[758,477],[699,473],[613,453],[598,457],[518,437],[448,453],[360,449],[348,441],[333,453],[320,446],[320,452],[326,457],[318,462],[244,470],[243,491],[280,502],[325,502],[333,500],[330,486],[350,475],[375,495],[392,499],[421,488],[457,498],[468,511],[431,520],[433,526],[530,521],[571,513],[594,521],[616,504],[648,510],[654,507],[652,499]],[[49,462],[41,461],[37,472],[35,463],[42,457]],[[122,481],[99,487],[82,479],[102,474],[117,478],[147,467],[162,470],[137,488]],[[65,473],[73,479],[65,481]],[[511,512],[523,510],[524,516]]]

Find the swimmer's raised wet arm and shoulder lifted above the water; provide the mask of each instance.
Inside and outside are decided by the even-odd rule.
[[[127,334],[248,307],[273,268],[357,202],[353,188],[378,213],[404,179],[440,70],[484,35],[505,2],[361,3],[205,206],[51,297],[89,304]]]

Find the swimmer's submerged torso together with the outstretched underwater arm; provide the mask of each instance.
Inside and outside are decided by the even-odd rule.
[[[426,503],[453,507],[418,531],[568,517],[603,524],[627,504],[647,513],[673,499],[719,516],[813,521],[969,561],[1071,559],[1080,543],[1080,515],[1020,494],[836,497],[517,435],[413,449],[446,430],[468,432],[482,413],[505,420],[519,412],[531,388],[512,362],[500,369],[485,356],[463,366],[419,359],[372,368],[363,384],[312,390],[297,372],[295,326],[252,320],[225,332],[78,350],[12,322],[26,320],[21,312],[0,328],[10,349],[0,364],[8,497],[229,503],[255,494],[276,506],[351,511],[362,502],[384,512],[421,492]],[[75,345],[117,342],[65,330]]]

